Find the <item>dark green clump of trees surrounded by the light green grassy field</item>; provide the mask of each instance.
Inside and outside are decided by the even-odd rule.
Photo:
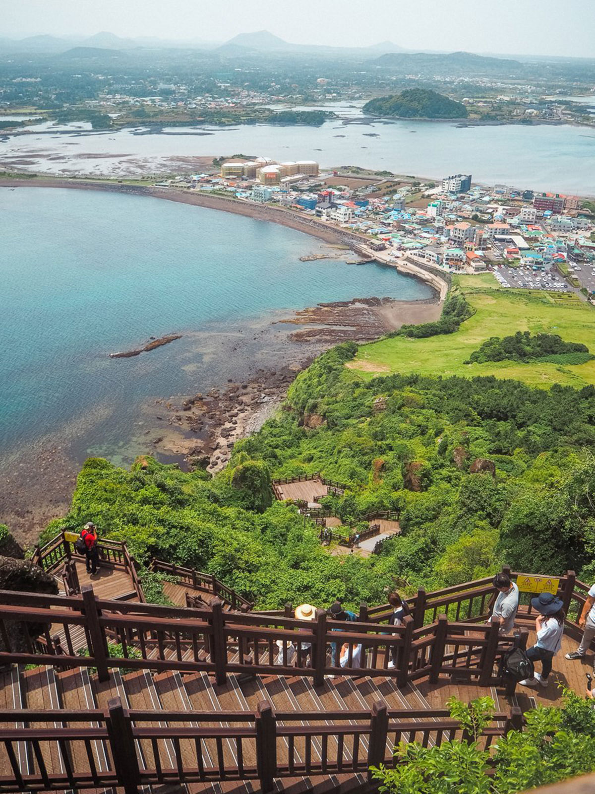
[[[557,333],[517,331],[510,337],[489,337],[474,350],[466,363],[485,364],[486,361],[551,361],[555,364],[583,364],[593,356],[580,342],[565,342]]]

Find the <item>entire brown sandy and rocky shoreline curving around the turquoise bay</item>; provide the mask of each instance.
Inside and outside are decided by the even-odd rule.
[[[67,187],[148,195],[277,222],[331,245],[339,243],[350,249],[354,246],[361,249],[366,242],[365,238],[342,229],[332,228],[321,222],[306,222],[305,218],[295,217],[286,210],[275,210],[219,196],[187,194],[123,183],[93,183],[83,179],[44,177],[2,178],[0,187]],[[382,256],[374,252],[370,252],[370,256],[380,264],[388,264],[383,263]],[[402,272],[407,275],[415,276],[425,283],[432,283],[435,295],[413,301],[378,298],[337,302],[344,305],[322,304],[301,310],[301,319],[297,312],[293,317],[290,311],[282,310],[278,310],[276,314],[267,314],[267,318],[263,318],[263,328],[267,326],[272,334],[282,333],[286,340],[278,343],[274,356],[268,355],[266,364],[264,357],[252,360],[248,371],[244,372],[244,380],[237,380],[241,374],[239,372],[234,377],[236,383],[232,384],[228,379],[225,384],[221,380],[217,384],[217,396],[213,395],[210,400],[197,400],[196,392],[194,396],[178,394],[169,398],[167,394],[155,395],[158,399],[153,401],[152,410],[148,409],[147,403],[140,404],[139,418],[148,421],[140,422],[143,429],[138,431],[134,439],[131,438],[135,449],[138,449],[136,442],[142,433],[142,449],[138,453],[155,454],[163,462],[178,463],[182,467],[206,466],[209,472],[223,468],[228,461],[233,442],[259,429],[280,406],[294,377],[314,357],[340,341],[369,341],[381,337],[404,322],[428,322],[440,315],[441,287],[447,289],[446,281],[438,282],[434,274],[424,273],[418,268],[414,272],[413,265],[409,268],[403,267],[402,263],[399,265],[397,270],[402,268]],[[390,266],[394,264],[390,263]],[[328,322],[329,315],[332,315],[331,322]],[[278,324],[282,321],[287,324]],[[295,337],[291,326],[296,329],[293,332]],[[271,351],[268,343],[267,349]],[[196,384],[196,387],[200,385]],[[171,388],[174,392],[176,384],[171,384]],[[243,398],[241,403],[238,402],[240,396]],[[0,511],[15,537],[20,542],[25,542],[25,545],[35,542],[36,536],[48,521],[64,515],[71,504],[76,475],[82,464],[77,438],[85,432],[78,420],[75,425],[78,427],[70,433],[57,430],[37,438],[21,450],[14,450],[11,455],[17,457],[14,457],[10,471],[4,474],[0,489]],[[108,456],[111,457],[111,453]],[[39,474],[40,467],[43,469],[43,476],[32,480],[31,472]]]

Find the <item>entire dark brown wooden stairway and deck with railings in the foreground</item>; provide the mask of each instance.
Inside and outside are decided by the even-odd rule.
[[[71,565],[65,545],[56,538],[37,561]],[[125,560],[125,546],[121,553]],[[486,624],[491,577],[420,588],[395,627],[386,604],[362,604],[349,624],[322,610],[300,621],[290,604],[253,611],[213,577],[169,572],[200,606],[104,599],[94,584],[72,595],[0,593],[0,792],[371,792],[367,770],[392,764],[395,743],[460,736],[449,697],[493,698],[489,746],[521,729],[536,703],[559,703],[557,682],[583,692],[592,665],[590,654],[564,658],[588,592],[572,572],[557,582],[562,650],[551,684],[536,689],[501,678],[513,640]],[[530,594],[521,595],[522,647],[534,642],[535,616]],[[351,653],[341,667],[334,646],[344,642]]]

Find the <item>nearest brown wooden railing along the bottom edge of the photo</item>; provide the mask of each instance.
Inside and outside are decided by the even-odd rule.
[[[480,746],[522,727],[520,709],[496,714]],[[2,773],[0,789],[121,787],[137,794],[149,785],[253,780],[269,792],[275,778],[359,773],[370,781],[370,766],[397,763],[392,747],[401,739],[427,747],[453,738],[463,732],[448,711],[392,710],[382,701],[370,711],[275,713],[267,701],[256,711],[159,711],[155,726],[155,711],[129,711],[116,697],[105,710],[0,711],[0,769],[12,772]],[[59,772],[48,763],[50,743]],[[108,769],[98,764],[98,744]]]

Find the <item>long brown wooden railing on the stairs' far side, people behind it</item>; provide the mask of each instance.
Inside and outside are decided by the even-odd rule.
[[[11,645],[7,626],[15,621],[23,627],[24,650]],[[33,642],[39,634],[43,642]],[[228,673],[305,676],[315,685],[330,675],[386,676],[401,687],[452,673],[495,685],[498,661],[511,642],[499,638],[497,625],[451,623],[445,616],[420,629],[411,617],[404,626],[345,623],[322,610],[315,621],[301,621],[225,613],[218,599],[209,608],[190,609],[102,601],[90,585],[70,597],[0,592],[0,637],[0,665],[94,667],[100,680],[109,679],[110,668],[126,668],[211,673],[217,684]],[[118,656],[109,656],[110,643],[112,650],[113,643],[121,646]],[[337,652],[344,643],[348,657],[341,667]],[[78,655],[81,646],[87,656]]]

